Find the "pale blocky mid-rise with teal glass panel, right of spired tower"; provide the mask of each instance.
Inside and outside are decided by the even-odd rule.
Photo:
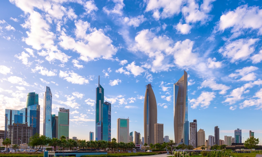
[[[117,143],[128,143],[129,119],[117,119]]]

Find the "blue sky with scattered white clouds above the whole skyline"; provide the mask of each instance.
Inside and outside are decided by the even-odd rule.
[[[242,129],[262,138],[261,1],[49,0],[0,2],[0,112],[25,107],[28,92],[70,109],[69,136],[95,132],[98,76],[117,118],[144,135],[145,85],[158,123],[174,139],[173,84],[188,73],[188,120],[206,138]],[[0,118],[4,126],[4,115]]]

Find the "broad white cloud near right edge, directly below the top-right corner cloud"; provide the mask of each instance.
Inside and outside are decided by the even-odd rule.
[[[255,50],[254,44],[259,41],[259,39],[238,39],[233,42],[226,42],[226,44],[221,47],[218,51],[224,57],[230,59],[233,63],[238,60],[246,60],[250,57]]]

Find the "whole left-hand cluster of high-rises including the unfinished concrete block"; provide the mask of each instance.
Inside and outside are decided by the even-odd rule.
[[[29,138],[40,133],[40,105],[38,94],[27,94],[25,108],[5,110],[5,130],[3,139],[11,139],[12,144],[28,143]],[[52,92],[46,86],[43,96],[43,135],[50,138],[65,136],[69,139],[69,109],[59,108],[58,115],[52,114]]]

